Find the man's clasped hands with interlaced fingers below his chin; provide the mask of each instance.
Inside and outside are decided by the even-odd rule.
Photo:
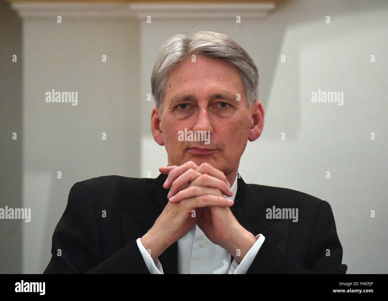
[[[234,202],[223,197],[233,195],[225,174],[208,163],[197,166],[192,161],[160,167],[159,171],[168,174],[163,188],[170,188],[170,192],[165,209],[141,238],[152,259],[156,261],[197,224],[211,242],[241,262],[256,238],[230,211]]]

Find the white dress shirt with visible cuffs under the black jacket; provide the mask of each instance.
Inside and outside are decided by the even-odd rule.
[[[237,177],[230,189],[233,195],[229,198],[234,200],[237,192]],[[213,244],[197,225],[194,225],[187,234],[178,240],[178,274],[245,274],[260,250],[265,237],[262,234],[256,236],[257,241],[249,249],[248,253],[239,263],[236,259],[230,264],[228,251]],[[140,253],[151,274],[163,274],[163,268],[156,259],[152,260],[140,238],[136,240]]]

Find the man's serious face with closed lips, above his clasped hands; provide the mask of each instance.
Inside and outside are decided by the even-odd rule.
[[[170,166],[190,160],[198,166],[208,162],[227,177],[236,175],[248,138],[253,141],[261,133],[260,129],[256,137],[251,130],[257,119],[254,116],[257,103],[248,108],[246,93],[234,66],[196,55],[195,62],[187,58],[170,71],[159,117],[159,134],[154,132],[152,124],[154,115],[158,115],[156,108],[151,116],[152,134],[156,142],[165,145]],[[184,137],[185,129],[187,137],[190,131],[210,131],[209,140],[180,141],[178,137]]]

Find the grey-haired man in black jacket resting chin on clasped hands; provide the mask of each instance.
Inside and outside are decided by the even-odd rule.
[[[346,272],[327,202],[238,174],[264,124],[244,49],[210,31],[175,35],[151,87],[151,131],[168,166],[157,179],[74,184],[45,273]]]

